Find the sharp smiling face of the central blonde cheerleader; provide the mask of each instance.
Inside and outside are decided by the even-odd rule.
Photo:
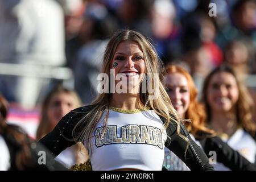
[[[127,78],[126,81],[131,84],[129,86],[137,86],[142,81],[142,73],[146,73],[144,55],[138,44],[129,40],[121,42],[115,50],[111,68],[116,77]]]

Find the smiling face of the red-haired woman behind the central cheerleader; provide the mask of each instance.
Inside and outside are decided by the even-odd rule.
[[[190,102],[187,78],[181,73],[170,73],[164,86],[179,117],[184,118]]]

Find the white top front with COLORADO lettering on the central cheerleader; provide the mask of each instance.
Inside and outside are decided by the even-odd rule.
[[[123,111],[109,110],[106,132],[102,138],[106,111],[98,122],[91,139],[92,169],[162,170],[164,142],[167,139],[166,130],[163,131],[163,122],[154,110],[137,113]]]

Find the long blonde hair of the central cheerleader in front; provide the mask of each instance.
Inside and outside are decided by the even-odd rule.
[[[104,60],[102,64],[101,73],[106,73],[110,77],[110,68],[111,63],[113,60],[113,56],[115,53],[115,50],[117,49],[117,46],[119,43],[129,40],[131,42],[135,42],[138,44],[138,46],[142,49],[144,60],[146,64],[146,73],[150,73],[154,75],[154,73],[158,73],[158,77],[152,77],[152,85],[155,85],[155,82],[158,82],[158,87],[156,89],[158,90],[158,97],[154,100],[148,99],[148,92],[146,93],[140,93],[140,100],[142,104],[146,107],[149,107],[150,109],[154,110],[156,114],[164,117],[166,119],[166,122],[164,122],[164,129],[168,127],[168,125],[171,123],[171,121],[177,123],[177,133],[180,135],[180,119],[174,109],[174,107],[171,105],[171,100],[168,97],[168,94],[166,93],[166,90],[164,89],[164,86],[162,85],[162,80],[164,78],[164,67],[162,61],[159,59],[158,55],[156,54],[156,51],[154,49],[154,46],[146,39],[142,34],[136,31],[132,30],[120,30],[118,32],[115,32],[115,34],[110,38],[108,46],[105,49],[104,53]],[[155,80],[158,79],[158,80]],[[89,145],[87,148],[90,148],[90,154],[91,154],[91,144],[90,144],[90,137],[92,136],[93,130],[96,127],[98,121],[102,117],[102,114],[106,110],[106,119],[104,122],[104,126],[106,126],[108,113],[109,113],[109,106],[110,106],[110,100],[111,100],[111,93],[101,93],[98,95],[96,100],[92,101],[92,110],[90,110],[81,121],[77,123],[75,128],[73,129],[73,136],[75,136],[75,130],[76,128],[81,125],[84,126],[83,123],[86,122],[86,126],[84,127],[84,130],[82,130],[82,133],[78,137],[74,137],[75,140],[78,141],[84,141]],[[183,135],[180,135],[181,138],[188,141],[186,137]],[[188,146],[187,146],[188,147]],[[185,152],[185,151],[184,151]]]

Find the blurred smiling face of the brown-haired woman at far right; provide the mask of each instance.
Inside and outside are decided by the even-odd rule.
[[[217,72],[209,80],[207,93],[207,101],[212,110],[231,111],[239,96],[236,78],[228,72]]]

